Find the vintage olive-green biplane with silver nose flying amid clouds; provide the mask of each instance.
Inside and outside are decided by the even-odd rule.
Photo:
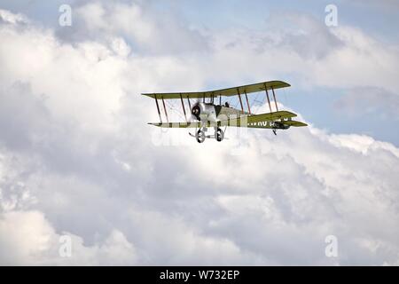
[[[275,135],[277,130],[288,130],[290,127],[304,127],[308,124],[293,120],[297,114],[286,110],[278,109],[276,99],[276,90],[290,87],[291,85],[282,81],[270,81],[263,83],[254,83],[250,85],[234,87],[216,91],[198,91],[198,92],[172,92],[172,93],[145,93],[143,96],[155,99],[160,122],[151,122],[160,128],[183,128],[195,129],[194,134],[189,134],[196,138],[199,143],[203,143],[206,138],[215,138],[216,141],[223,141],[227,127],[247,127],[254,129],[270,129]],[[251,106],[248,100],[248,94],[264,91],[270,113],[254,114],[251,112]],[[272,110],[270,92],[273,96],[275,111]],[[222,104],[222,98],[238,96],[239,108],[231,107],[228,102]],[[246,99],[247,110],[244,110],[243,100]],[[169,122],[168,111],[165,106],[165,100],[177,99],[181,101],[185,122]],[[196,102],[192,103],[191,99]],[[217,99],[219,99],[217,103]],[[187,100],[190,115],[187,115],[184,100]],[[160,112],[160,103],[162,103],[166,122],[162,120]],[[224,128],[224,130],[222,129]],[[214,133],[207,135],[207,130],[213,129]]]

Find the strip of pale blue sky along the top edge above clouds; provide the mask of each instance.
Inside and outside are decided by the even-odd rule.
[[[250,2],[240,0],[218,0],[212,4],[204,1],[176,0],[173,2],[148,1],[150,5],[159,7],[160,11],[164,8],[181,12],[185,20],[194,24],[207,26],[208,28],[229,28],[246,27],[259,29],[264,27],[270,13],[279,12],[301,12],[309,13],[319,20],[325,18],[325,6],[336,4],[339,7],[340,22],[346,25],[364,29],[372,36],[376,36],[387,42],[399,40],[395,27],[399,24],[397,10],[395,6],[384,4],[388,1],[262,1],[253,0]],[[391,1],[392,2],[392,1]],[[2,0],[4,8],[13,12],[23,12],[30,18],[38,20],[48,25],[56,25],[58,22],[57,10],[60,4],[80,4],[76,0],[55,0],[51,2],[42,1],[7,1]]]

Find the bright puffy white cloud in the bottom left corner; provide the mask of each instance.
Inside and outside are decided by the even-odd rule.
[[[12,211],[0,219],[2,265],[127,265],[136,264],[135,248],[123,233],[113,230],[101,244],[84,246],[79,236],[71,239],[71,255],[61,256],[65,243],[39,211]]]

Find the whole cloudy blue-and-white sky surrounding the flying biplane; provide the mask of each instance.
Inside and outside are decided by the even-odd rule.
[[[0,0],[0,264],[398,265],[398,8]],[[146,124],[140,93],[270,80],[308,128]]]

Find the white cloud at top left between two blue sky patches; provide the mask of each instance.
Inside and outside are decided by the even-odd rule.
[[[114,36],[133,43],[134,52],[145,54],[192,53],[207,50],[207,41],[188,27],[179,14],[160,11],[151,2],[129,3],[92,1],[74,9],[72,29],[59,29],[61,38],[72,41],[89,39],[107,42]]]

